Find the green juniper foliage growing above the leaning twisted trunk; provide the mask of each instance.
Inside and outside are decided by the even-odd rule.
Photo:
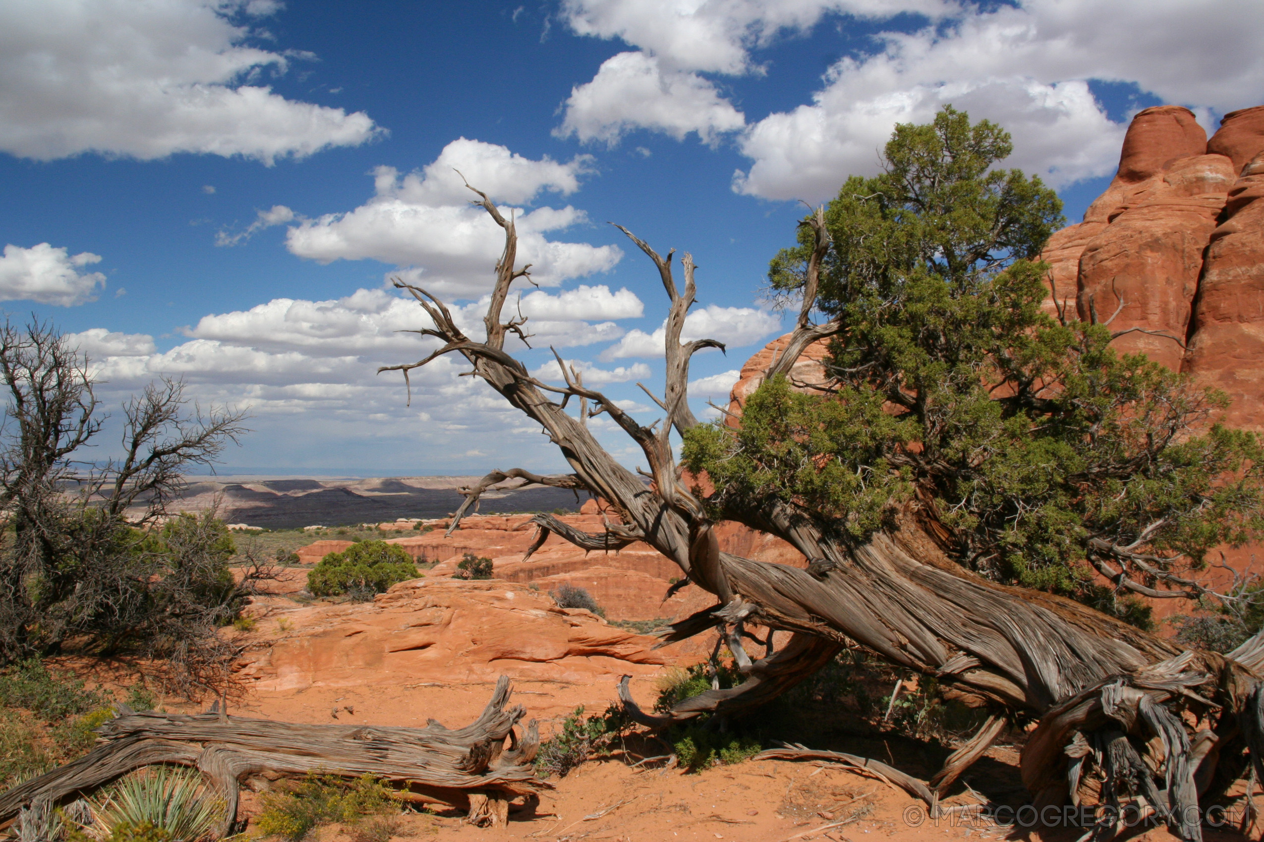
[[[685,461],[717,511],[780,500],[852,543],[916,500],[967,568],[1144,626],[1131,595],[1203,595],[1207,552],[1261,533],[1264,454],[1215,424],[1222,395],[1042,307],[1062,207],[996,165],[1010,150],[951,106],[897,126],[884,172],[824,210],[828,239],[810,217],[771,263],[780,295],[819,284],[825,381],[769,379]]]

